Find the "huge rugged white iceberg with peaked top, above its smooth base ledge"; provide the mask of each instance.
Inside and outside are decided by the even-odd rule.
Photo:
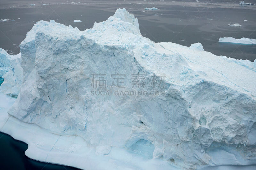
[[[256,163],[255,62],[215,56],[200,43],[154,43],[125,9],[85,31],[39,21],[20,50],[23,83],[8,113],[23,122],[79,135],[97,154],[139,148],[188,169]],[[120,95],[110,87],[117,73],[123,92],[165,95]],[[106,86],[93,87],[96,74]],[[143,84],[134,86],[134,75]]]

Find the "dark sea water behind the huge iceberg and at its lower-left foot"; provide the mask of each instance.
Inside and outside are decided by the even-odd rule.
[[[9,54],[20,53],[18,45],[36,21],[54,19],[67,26],[85,30],[92,28],[95,21],[101,22],[112,16],[117,8],[126,8],[138,18],[142,35],[154,42],[174,42],[188,47],[200,42],[205,51],[215,55],[250,61],[256,59],[256,45],[218,43],[220,37],[229,36],[256,39],[256,5],[240,6],[237,5],[238,1],[232,0],[79,0],[76,1],[77,4],[72,1],[74,0],[1,0],[0,19],[15,21],[0,22],[0,48]],[[253,2],[255,3],[251,3]],[[159,10],[144,10],[153,6]],[[82,22],[74,23],[73,20]],[[239,23],[242,27],[228,26],[234,23]],[[27,144],[0,133],[0,169],[75,169],[29,159],[24,154],[27,148]]]

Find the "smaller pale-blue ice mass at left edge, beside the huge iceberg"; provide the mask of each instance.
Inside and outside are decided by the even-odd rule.
[[[23,80],[22,72],[21,54],[9,55],[0,48],[0,78],[4,79],[0,92],[17,97]]]

